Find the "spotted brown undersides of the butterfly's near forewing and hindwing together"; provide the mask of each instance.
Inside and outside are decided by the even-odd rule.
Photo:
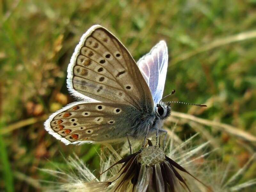
[[[76,46],[67,84],[69,92],[83,102],[62,108],[44,123],[65,144],[118,139],[114,134],[122,132],[122,121],[129,116],[125,109],[154,110],[148,84],[131,54],[99,25],[92,26]]]

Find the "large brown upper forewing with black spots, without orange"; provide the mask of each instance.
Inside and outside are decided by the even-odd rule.
[[[88,31],[70,63],[71,92],[101,102],[153,106],[148,85],[124,45],[101,26]]]

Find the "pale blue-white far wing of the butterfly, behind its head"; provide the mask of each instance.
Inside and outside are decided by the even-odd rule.
[[[137,63],[156,104],[163,96],[168,66],[168,51],[165,41],[156,44]]]

